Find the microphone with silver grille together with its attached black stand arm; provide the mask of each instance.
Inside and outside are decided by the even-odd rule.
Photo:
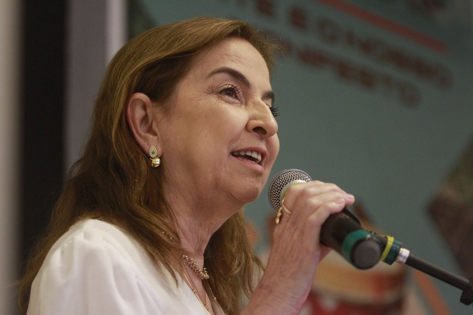
[[[286,191],[297,183],[312,181],[312,178],[301,170],[292,168],[280,171],[269,183],[268,198],[274,210],[278,211]],[[410,253],[403,243],[392,236],[381,236],[361,227],[359,219],[347,208],[342,212],[331,214],[322,224],[320,242],[333,248],[349,263],[358,269],[369,269],[378,261],[389,265],[401,263],[427,273],[463,290],[460,302],[473,304],[473,277],[466,279],[446,271]]]

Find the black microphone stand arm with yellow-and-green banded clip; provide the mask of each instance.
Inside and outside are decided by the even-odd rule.
[[[392,264],[393,262],[403,263],[427,273],[438,280],[463,290],[462,296],[460,297],[460,302],[463,304],[471,305],[473,303],[473,277],[468,280],[412,255],[409,250],[402,247],[401,242],[395,240],[392,236],[373,234],[378,237],[385,248],[385,252],[381,256],[382,261],[387,264]]]

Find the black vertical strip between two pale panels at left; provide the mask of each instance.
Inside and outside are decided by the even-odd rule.
[[[24,0],[22,256],[44,230],[63,180],[65,1]]]

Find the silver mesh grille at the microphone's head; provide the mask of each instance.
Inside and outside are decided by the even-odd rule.
[[[279,210],[282,189],[290,182],[298,179],[306,182],[312,181],[312,178],[306,172],[296,168],[285,169],[272,177],[268,186],[268,199],[272,209]]]

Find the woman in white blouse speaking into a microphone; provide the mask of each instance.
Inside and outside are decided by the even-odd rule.
[[[263,266],[242,209],[279,150],[277,49],[243,22],[203,17],[151,29],[115,55],[84,155],[28,263],[23,312],[298,313],[327,252],[320,226],[354,199],[333,184],[291,187],[292,214],[254,288]]]

